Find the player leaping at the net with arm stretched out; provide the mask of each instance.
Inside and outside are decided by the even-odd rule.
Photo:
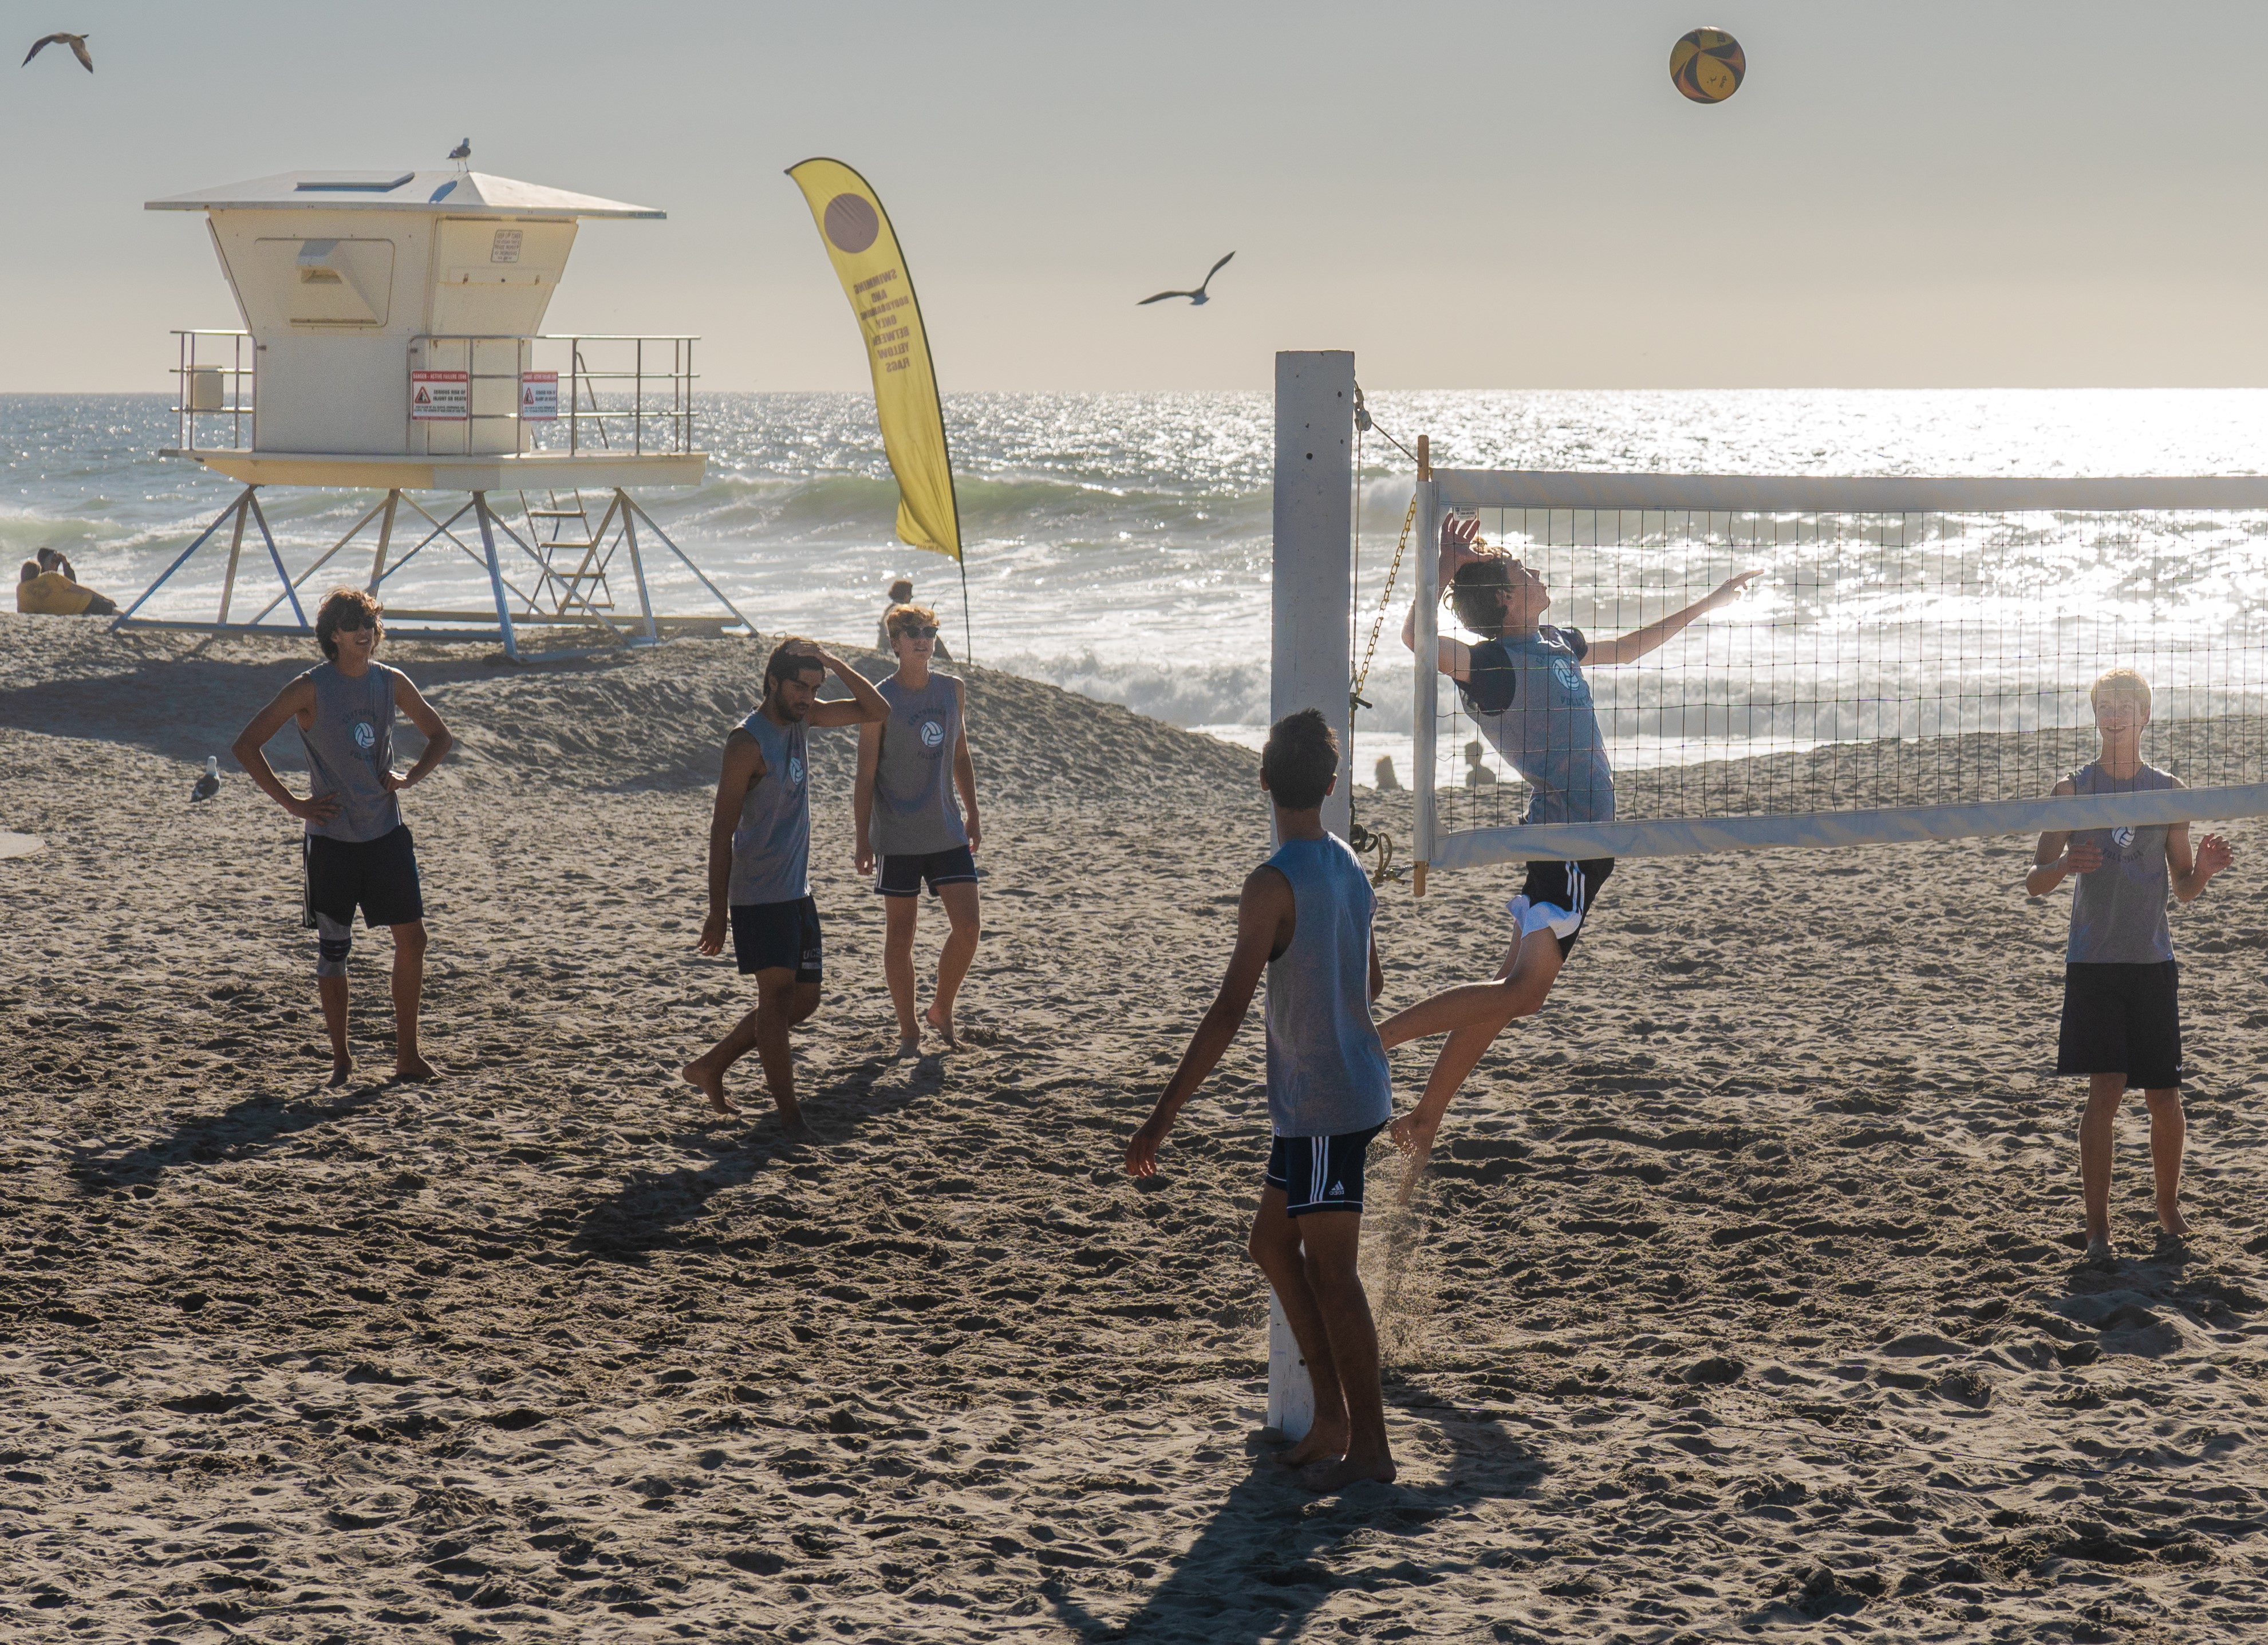
[[[1635,663],[1694,617],[1737,599],[1760,572],[1740,572],[1706,599],[1619,640],[1585,640],[1581,629],[1547,626],[1542,615],[1551,592],[1545,579],[1508,554],[1474,547],[1479,533],[1479,520],[1449,515],[1440,524],[1440,588],[1456,619],[1481,635],[1481,644],[1442,638],[1436,665],[1456,681],[1481,735],[1526,778],[1531,799],[1524,824],[1613,821],[1615,771],[1583,667]],[[1402,624],[1402,644],[1417,649],[1415,601]],[[1411,1187],[1433,1153],[1440,1116],[1481,1053],[1515,1016],[1542,1010],[1613,871],[1613,858],[1529,862],[1526,880],[1506,910],[1513,944],[1497,978],[1447,989],[1379,1023],[1388,1046],[1449,1035],[1417,1107],[1393,1128],[1395,1146],[1411,1155]]]

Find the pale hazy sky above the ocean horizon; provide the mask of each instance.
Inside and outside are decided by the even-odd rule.
[[[653,204],[551,331],[699,331],[714,390],[855,390],[782,168],[889,209],[955,390],[2268,381],[2268,7],[2250,0],[36,0],[0,61],[0,393],[159,390],[234,327],[195,216],[297,168]],[[1690,27],[1749,57],[1669,84]],[[0,41],[5,45],[5,41]],[[18,48],[20,50],[20,48]],[[1236,252],[1213,302],[1136,306]]]

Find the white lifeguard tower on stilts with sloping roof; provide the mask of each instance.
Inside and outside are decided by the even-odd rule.
[[[694,447],[696,338],[542,331],[576,227],[660,211],[469,168],[284,172],[147,209],[206,213],[245,320],[243,331],[175,334],[179,440],[161,456],[195,458],[243,492],[118,626],[274,631],[281,622],[268,617],[288,604],[304,633],[299,590],[365,542],[370,592],[429,549],[485,572],[490,608],[390,608],[404,638],[501,640],[519,660],[524,629],[581,629],[603,644],[653,644],[665,624],[755,631],[631,495],[692,486],[708,470]],[[261,508],[263,486],[383,497],[293,576]],[[411,492],[440,501],[429,508]],[[467,501],[451,506],[451,495]],[[417,542],[399,554],[404,524]],[[231,617],[245,599],[247,526],[281,581],[249,619]],[[225,529],[213,619],[138,615]],[[655,615],[642,533],[728,615]],[[624,563],[635,613],[617,606],[628,592],[617,590]]]

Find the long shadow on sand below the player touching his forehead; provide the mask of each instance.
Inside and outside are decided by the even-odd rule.
[[[748,1071],[735,1082],[742,1112],[717,1114],[701,1130],[674,1137],[680,1148],[708,1153],[710,1164],[699,1171],[633,1171],[615,1193],[583,1212],[574,1239],[567,1241],[569,1250],[635,1264],[651,1250],[687,1243],[685,1223],[699,1221],[708,1203],[726,1189],[753,1182],[778,1162],[794,1164],[823,1153],[828,1144],[846,1141],[866,1123],[943,1089],[943,1066],[934,1057],[921,1057],[905,1085],[875,1091],[875,1075],[896,1062],[866,1057],[803,1096],[805,1119],[819,1137],[792,1141],[780,1134],[762,1078],[753,1075],[755,1057],[746,1057],[739,1066]],[[678,1089],[687,1107],[699,1107],[699,1091],[689,1085]]]

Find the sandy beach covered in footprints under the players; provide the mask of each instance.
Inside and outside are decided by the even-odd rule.
[[[340,1091],[297,824],[222,753],[311,647],[193,651],[0,615],[0,830],[45,842],[0,860],[0,1638],[2268,1627],[2259,824],[2173,917],[2195,1237],[2152,1241],[2136,1098],[2109,1266],[2030,840],[1622,864],[1370,1218],[1402,1479],[1318,1502],[1261,1434],[1256,1021],[1120,1169],[1263,851],[1254,756],[955,669],[984,946],[964,1048],[894,1062],[814,735],[789,1146],[753,1066],[739,1119],[674,1078],[753,1003],[694,937],[760,647],[386,651],[460,740],[406,799],[447,1078],[381,1078],[363,935]],[[1510,889],[1383,894],[1383,1005],[1492,969]]]

